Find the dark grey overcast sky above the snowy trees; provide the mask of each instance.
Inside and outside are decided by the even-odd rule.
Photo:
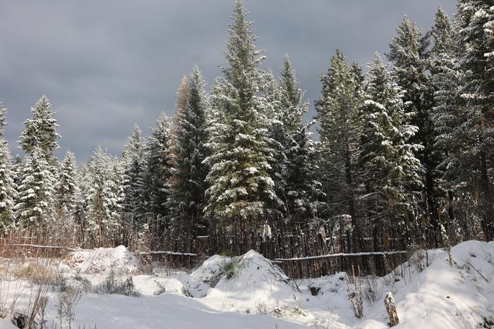
[[[263,68],[278,73],[289,54],[311,101],[339,48],[366,66],[385,53],[404,13],[428,30],[438,5],[454,0],[245,0],[265,49]],[[98,145],[121,154],[134,123],[145,135],[159,113],[173,115],[176,89],[197,64],[208,88],[224,65],[233,0],[0,0],[0,101],[6,138],[18,136],[42,94],[59,122],[61,158],[79,161]],[[311,109],[311,111],[313,111]]]

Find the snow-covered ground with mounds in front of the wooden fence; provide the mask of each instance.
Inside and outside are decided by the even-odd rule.
[[[253,251],[234,259],[212,256],[192,273],[168,275],[143,273],[124,247],[76,252],[52,267],[64,285],[85,291],[72,328],[387,328],[383,298],[388,291],[397,302],[396,328],[489,328],[494,319],[494,242],[458,244],[452,248],[452,266],[443,250],[423,256],[415,254],[385,278],[362,278],[361,319],[351,310],[344,273],[294,281]],[[108,278],[124,287],[116,290],[131,296],[104,293]],[[4,275],[0,299],[8,304],[13,296],[5,296],[13,295],[16,285],[23,286],[22,311],[32,297],[32,280]],[[58,323],[57,328],[59,290],[48,290],[46,309],[48,324]],[[68,328],[66,321],[62,326]],[[0,328],[13,326],[0,321]]]

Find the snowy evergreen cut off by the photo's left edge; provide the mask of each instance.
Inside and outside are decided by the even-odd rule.
[[[16,199],[16,183],[14,182],[11,152],[4,139],[4,125],[6,125],[4,104],[0,102],[0,234],[6,234],[15,225],[13,213]]]

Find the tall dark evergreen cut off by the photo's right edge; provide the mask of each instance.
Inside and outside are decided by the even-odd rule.
[[[488,240],[494,237],[494,60],[493,4],[489,0],[459,1],[459,40],[466,51],[459,60],[464,74],[461,96],[464,122],[462,146],[454,158],[458,179],[469,182]]]

